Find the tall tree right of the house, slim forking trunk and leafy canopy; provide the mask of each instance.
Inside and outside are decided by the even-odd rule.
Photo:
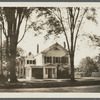
[[[42,24],[40,22],[33,23],[33,27],[36,28],[36,31],[43,28],[47,30],[47,35],[45,36],[47,39],[52,34],[55,36],[63,34],[65,36],[70,55],[71,80],[74,81],[74,57],[77,38],[80,33],[79,30],[81,29],[83,20],[86,20],[86,18],[96,22],[95,9],[80,7],[44,7],[38,8],[36,11],[39,12],[37,16],[39,20],[41,16],[42,19],[45,18]],[[41,27],[39,25],[41,25]]]

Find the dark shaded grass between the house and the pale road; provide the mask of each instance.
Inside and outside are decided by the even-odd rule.
[[[90,85],[100,85],[100,80],[76,80],[71,82],[66,80],[63,82],[17,82],[17,83],[4,83],[0,84],[0,88],[11,89],[11,88],[46,88],[46,87],[72,87],[72,86],[90,86]]]

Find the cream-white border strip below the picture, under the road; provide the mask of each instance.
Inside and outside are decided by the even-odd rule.
[[[100,93],[35,93],[10,92],[0,93],[0,98],[100,98]]]

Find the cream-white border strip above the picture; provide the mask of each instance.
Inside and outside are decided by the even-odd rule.
[[[100,2],[0,2],[0,7],[100,7]]]

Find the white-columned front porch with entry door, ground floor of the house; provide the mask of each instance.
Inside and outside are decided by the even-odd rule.
[[[56,79],[57,68],[53,65],[26,67],[26,79]]]

